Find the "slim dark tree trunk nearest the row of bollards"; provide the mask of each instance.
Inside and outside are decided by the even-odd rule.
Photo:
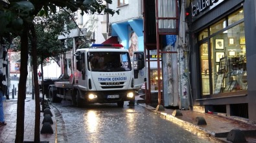
[[[36,113],[35,113],[35,127],[34,127],[34,142],[40,142],[40,93],[39,93],[39,85],[38,85],[38,57],[37,57],[37,37],[36,31],[34,29],[34,24],[30,27],[30,32],[32,33],[32,65],[33,65],[33,76],[34,76],[34,91],[35,91],[35,105],[36,105]]]

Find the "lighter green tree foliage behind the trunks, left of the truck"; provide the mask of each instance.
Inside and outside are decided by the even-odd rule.
[[[51,11],[51,10],[50,10]],[[65,48],[64,43],[58,40],[58,35],[64,32],[64,25],[69,25],[69,28],[74,28],[70,16],[65,11],[61,10],[58,13],[51,12],[47,17],[36,17],[38,23],[35,24],[37,37],[37,55],[40,57],[38,63],[47,57],[58,57],[61,53],[65,53],[69,48]]]

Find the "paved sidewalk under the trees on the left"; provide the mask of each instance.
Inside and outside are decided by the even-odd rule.
[[[41,107],[41,104],[40,104]],[[0,126],[0,142],[2,143],[13,143],[16,138],[16,119],[17,119],[17,95],[12,99],[3,100],[3,108],[5,113],[6,126]],[[54,143],[56,139],[56,120],[54,112],[52,111],[51,128],[53,134],[40,133],[40,142]],[[43,112],[40,113],[40,132],[42,129]],[[25,99],[25,120],[24,120],[24,142],[34,141],[34,124],[35,124],[35,100],[32,99],[31,95],[27,94]]]

